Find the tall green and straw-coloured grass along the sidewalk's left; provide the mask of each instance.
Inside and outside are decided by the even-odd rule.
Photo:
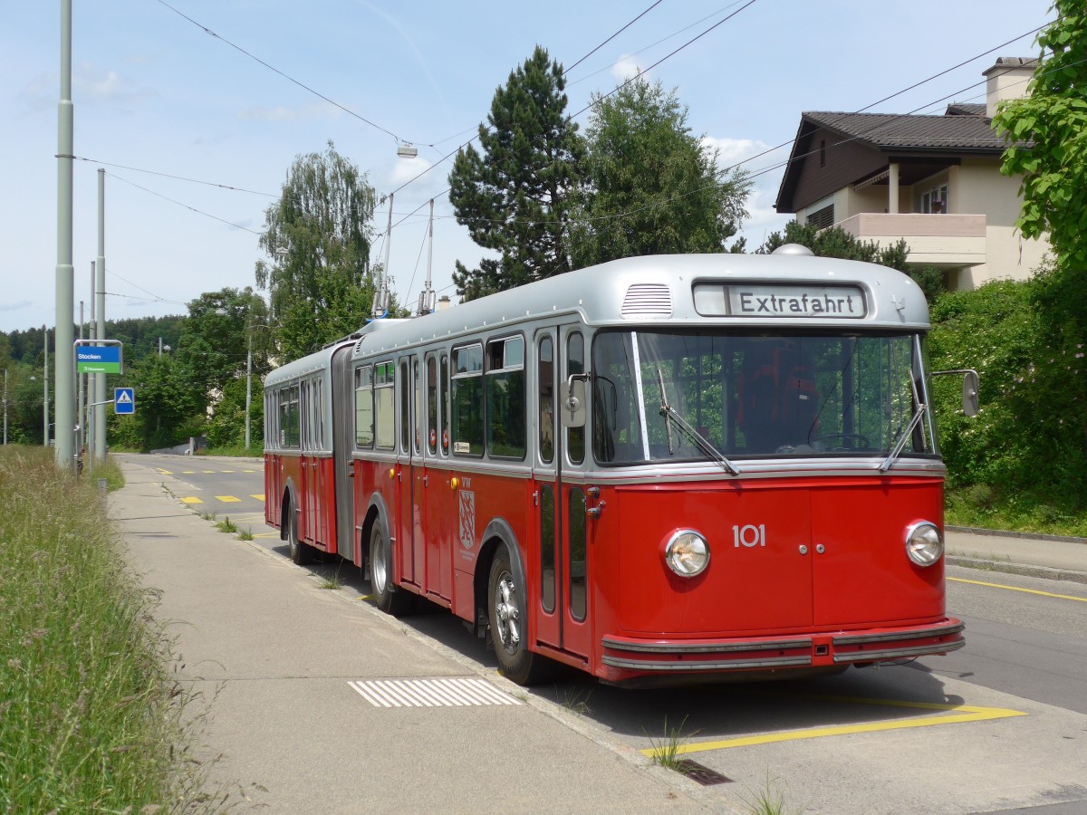
[[[192,803],[176,772],[186,695],[152,609],[97,479],[58,472],[48,450],[0,450],[0,812]]]

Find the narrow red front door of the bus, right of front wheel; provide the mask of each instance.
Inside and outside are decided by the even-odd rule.
[[[590,647],[589,525],[585,427],[559,422],[559,384],[585,373],[585,334],[579,326],[539,331],[535,337],[538,416],[534,503],[539,529],[538,562],[526,565],[537,575],[534,603],[540,643],[588,656]],[[530,578],[529,578],[530,579]],[[530,601],[532,602],[532,601]]]

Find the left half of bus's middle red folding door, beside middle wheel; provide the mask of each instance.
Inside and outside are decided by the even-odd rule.
[[[400,579],[416,586],[425,577],[425,570],[422,567],[422,502],[425,474],[421,447],[422,427],[417,408],[420,389],[418,356],[401,356],[397,362],[400,438],[397,448],[399,452],[397,456],[397,551],[393,556],[400,565]]]

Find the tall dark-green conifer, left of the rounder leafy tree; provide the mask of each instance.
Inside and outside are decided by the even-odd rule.
[[[539,46],[495,91],[480,151],[467,146],[449,174],[457,223],[499,253],[497,266],[458,264],[459,292],[478,297],[569,272],[567,222],[584,146],[566,114],[562,66]]]

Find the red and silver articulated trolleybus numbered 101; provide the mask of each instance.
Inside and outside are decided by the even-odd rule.
[[[296,562],[368,564],[386,612],[489,630],[522,684],[962,647],[925,299],[784,250],[614,261],[272,372],[267,523]]]

